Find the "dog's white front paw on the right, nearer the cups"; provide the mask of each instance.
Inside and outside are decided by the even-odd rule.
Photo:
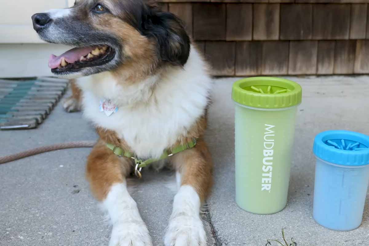
[[[206,233],[199,217],[178,214],[170,219],[165,246],[206,246]]]

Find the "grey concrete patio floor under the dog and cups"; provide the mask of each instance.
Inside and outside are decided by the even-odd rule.
[[[314,136],[328,129],[369,135],[369,77],[287,78],[303,87],[303,103],[298,110],[288,204],[273,215],[250,214],[234,202],[231,86],[236,78],[214,80],[206,138],[213,154],[215,184],[203,215],[208,245],[264,246],[266,239],[282,239],[282,227],[298,245],[369,245],[368,198],[362,225],[353,231],[330,231],[312,218]],[[81,113],[67,114],[59,104],[38,129],[0,132],[0,156],[96,138]],[[0,165],[0,246],[108,245],[110,227],[84,178],[89,152],[58,150]],[[132,189],[155,246],[163,245],[174,195],[172,179],[170,171],[145,171],[144,179],[135,181]]]

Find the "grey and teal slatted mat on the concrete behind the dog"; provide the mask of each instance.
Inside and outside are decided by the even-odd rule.
[[[50,77],[0,80],[0,129],[37,128],[66,91],[68,80]]]

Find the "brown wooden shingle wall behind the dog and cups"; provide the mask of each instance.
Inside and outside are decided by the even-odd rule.
[[[214,76],[369,73],[369,0],[160,0]]]

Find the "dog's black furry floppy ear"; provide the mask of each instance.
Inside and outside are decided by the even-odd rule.
[[[142,17],[142,31],[158,43],[161,60],[183,66],[190,54],[190,38],[183,22],[169,12],[146,5]]]

